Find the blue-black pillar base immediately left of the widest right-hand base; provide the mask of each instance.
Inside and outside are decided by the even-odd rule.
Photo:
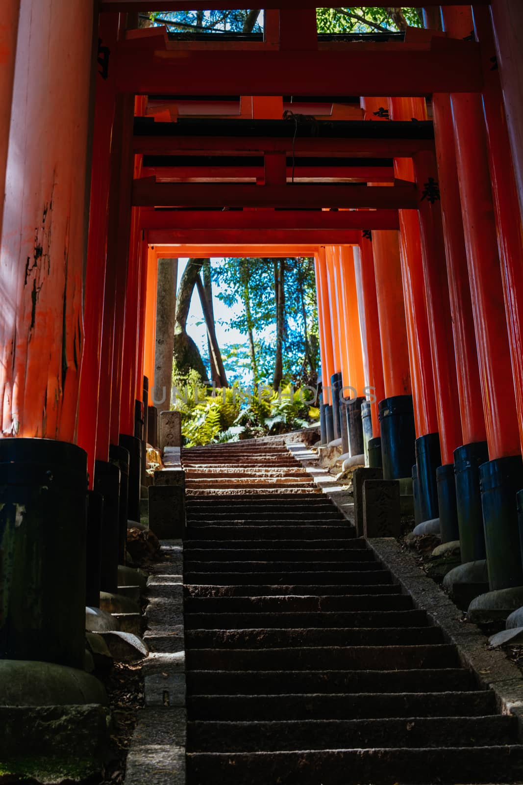
[[[486,442],[463,444],[454,451],[456,513],[463,564],[485,559],[479,467],[488,462]]]

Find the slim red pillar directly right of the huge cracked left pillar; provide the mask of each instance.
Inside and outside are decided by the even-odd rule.
[[[107,262],[107,211],[111,171],[111,137],[116,100],[114,76],[118,25],[118,14],[100,14],[101,64],[98,64],[96,73],[93,165],[84,295],[85,338],[78,407],[78,444],[87,452],[89,487],[93,487],[96,458],[96,421],[100,388],[104,284]],[[106,400],[103,400],[102,406],[105,405]]]

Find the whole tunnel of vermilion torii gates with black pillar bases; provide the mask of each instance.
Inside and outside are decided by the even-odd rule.
[[[314,257],[322,441],[370,422],[418,520],[523,586],[523,3],[366,38],[318,35],[309,0],[263,37],[138,25],[237,5],[2,5],[2,658],[81,664],[85,601],[117,590],[158,257]]]

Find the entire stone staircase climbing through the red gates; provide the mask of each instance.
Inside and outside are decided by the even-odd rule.
[[[182,460],[188,785],[523,781],[515,717],[283,439]]]

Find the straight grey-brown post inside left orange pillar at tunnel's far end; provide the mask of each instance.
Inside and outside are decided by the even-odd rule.
[[[177,259],[158,259],[153,393],[153,403],[158,412],[171,407],[177,273]]]

